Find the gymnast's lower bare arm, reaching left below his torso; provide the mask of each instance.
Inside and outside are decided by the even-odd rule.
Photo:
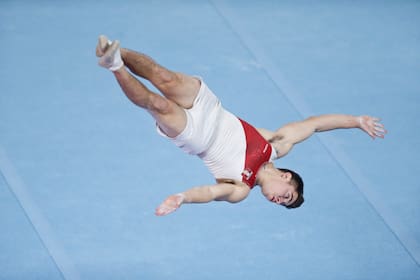
[[[243,183],[218,183],[191,188],[185,192],[170,195],[156,208],[157,216],[168,215],[185,203],[207,203],[211,201],[227,201],[236,203],[244,200],[250,188]]]

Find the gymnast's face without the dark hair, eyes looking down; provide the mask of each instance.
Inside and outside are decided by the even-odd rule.
[[[261,192],[268,201],[283,206],[293,204],[299,196],[296,187],[292,185],[292,174],[282,171],[278,171],[276,176],[272,176],[261,187]]]

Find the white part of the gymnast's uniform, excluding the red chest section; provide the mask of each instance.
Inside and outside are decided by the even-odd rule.
[[[216,179],[242,180],[246,138],[240,120],[225,110],[219,99],[201,81],[200,91],[191,109],[185,109],[187,124],[171,139],[185,152],[200,157]],[[275,158],[272,149],[271,160]]]

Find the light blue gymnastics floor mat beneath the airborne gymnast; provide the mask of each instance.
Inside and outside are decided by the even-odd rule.
[[[420,279],[419,1],[1,1],[0,279]],[[277,166],[305,180],[286,210],[169,194],[201,162],[98,67],[99,34],[202,76],[276,129],[324,113],[389,130],[317,134]]]

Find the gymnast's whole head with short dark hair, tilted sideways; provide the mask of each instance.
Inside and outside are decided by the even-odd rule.
[[[303,202],[303,180],[296,172],[285,168],[274,168],[261,181],[261,192],[265,198],[288,209],[300,207]]]

